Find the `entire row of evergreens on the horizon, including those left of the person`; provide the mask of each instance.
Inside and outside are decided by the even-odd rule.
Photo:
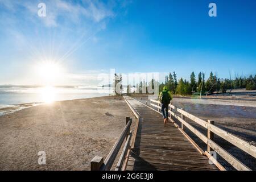
[[[122,75],[115,74],[114,85],[122,83]],[[190,80],[180,78],[177,80],[176,72],[169,73],[165,77],[165,81],[159,83],[158,81],[152,79],[149,82],[141,81],[134,86],[127,85],[127,93],[134,94],[151,94],[148,88],[154,90],[155,85],[159,85],[159,91],[163,90],[164,86],[167,86],[168,90],[172,94],[178,94],[181,96],[189,96],[192,93],[197,93],[200,95],[209,95],[213,93],[226,93],[232,89],[245,88],[246,90],[255,90],[256,89],[256,75],[250,75],[249,77],[245,76],[235,76],[234,79],[231,78],[218,78],[217,75],[213,75],[210,72],[208,79],[205,79],[205,73],[199,72],[197,78],[195,72],[192,72],[190,75]],[[131,88],[135,87],[133,92]],[[122,90],[121,84],[121,90]],[[122,92],[122,91],[121,91]],[[115,94],[120,94],[115,91]]]

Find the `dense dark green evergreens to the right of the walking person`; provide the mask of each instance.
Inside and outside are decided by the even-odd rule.
[[[200,72],[197,79],[195,72],[190,75],[190,81],[180,78],[177,82],[176,73],[169,73],[166,75],[165,82],[159,85],[159,89],[162,90],[163,86],[167,86],[173,94],[179,94],[182,96],[191,95],[192,93],[199,93],[201,95],[208,95],[213,93],[226,93],[227,90],[245,88],[246,90],[256,89],[256,75],[254,77],[235,77],[235,79],[218,78],[217,75],[213,75],[210,72],[209,78],[205,80],[205,73]]]

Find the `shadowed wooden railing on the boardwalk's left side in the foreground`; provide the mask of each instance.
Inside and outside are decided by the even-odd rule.
[[[95,156],[93,160],[90,162],[91,171],[110,171],[110,169],[113,166],[113,163],[115,162],[115,158],[117,157],[124,141],[125,141],[125,145],[121,152],[117,166],[115,167],[115,171],[120,171],[125,169],[128,161],[128,157],[129,157],[130,141],[132,137],[132,132],[130,130],[131,123],[132,123],[132,119],[130,117],[126,117],[125,129],[123,129],[117,142],[115,142],[112,150],[109,152],[109,155],[105,160],[101,156]]]

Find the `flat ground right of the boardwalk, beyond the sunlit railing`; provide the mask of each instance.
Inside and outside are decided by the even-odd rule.
[[[135,96],[134,98],[144,104],[150,105],[147,96]],[[213,120],[214,125],[256,146],[256,96],[232,94],[231,96],[208,96],[203,97],[201,100],[195,97],[175,96],[171,102],[173,105],[184,108],[185,111],[205,121],[207,121],[207,119]],[[189,121],[189,119],[186,119],[186,121],[205,135],[207,134],[206,130],[195,122]],[[203,150],[206,150],[206,145],[201,142],[200,139],[192,135],[188,129],[185,129],[185,131],[203,148]],[[236,156],[236,158],[241,160],[246,166],[256,170],[255,158],[247,155],[245,152],[218,136],[214,138],[214,141],[220,144],[225,150],[229,151],[230,154]],[[221,160],[221,163],[226,168],[232,169],[224,160]]]

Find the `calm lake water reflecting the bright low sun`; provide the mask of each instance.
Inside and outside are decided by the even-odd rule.
[[[4,105],[52,102],[109,96],[110,88],[97,86],[74,87],[0,87],[0,107]]]

